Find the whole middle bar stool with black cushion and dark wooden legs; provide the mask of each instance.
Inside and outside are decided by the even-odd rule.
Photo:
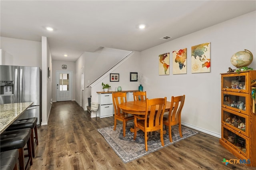
[[[31,129],[24,128],[20,130],[12,130],[12,131],[4,131],[0,135],[0,150],[1,152],[18,149],[19,150],[19,166],[20,170],[26,170],[28,168],[28,164],[30,166],[33,164],[32,162],[32,148],[31,148]],[[24,155],[24,146],[28,147],[28,155]],[[26,162],[26,166],[24,166],[24,158],[28,157],[28,161]]]

